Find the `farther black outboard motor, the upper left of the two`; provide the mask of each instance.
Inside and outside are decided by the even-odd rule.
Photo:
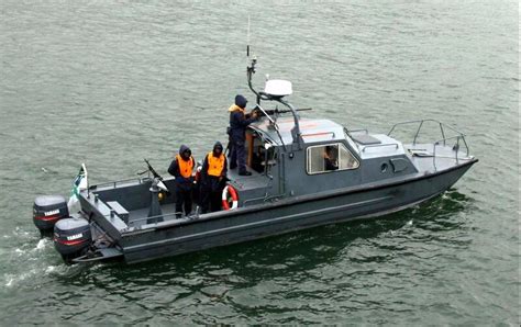
[[[42,236],[51,235],[56,222],[68,216],[67,201],[62,195],[40,195],[34,200],[33,222]]]

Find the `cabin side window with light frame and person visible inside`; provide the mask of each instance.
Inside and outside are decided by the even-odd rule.
[[[342,143],[310,146],[307,153],[310,174],[358,168],[358,160]]]

